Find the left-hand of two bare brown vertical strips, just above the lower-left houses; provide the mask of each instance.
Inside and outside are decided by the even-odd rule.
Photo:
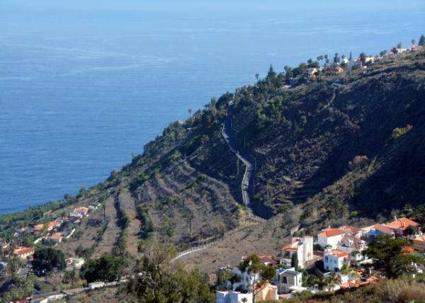
[[[103,234],[102,240],[96,248],[96,256],[101,256],[103,253],[111,253],[112,248],[121,233],[121,228],[117,224],[117,211],[115,210],[113,202],[113,197],[109,197],[105,202],[106,217],[109,218],[109,222],[108,227],[106,227],[106,231]]]

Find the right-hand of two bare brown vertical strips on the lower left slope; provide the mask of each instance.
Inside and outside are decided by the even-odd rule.
[[[120,205],[124,208],[126,214],[130,218],[130,225],[128,226],[128,241],[127,251],[132,256],[137,256],[137,244],[139,243],[140,221],[137,219],[137,212],[135,200],[131,197],[128,190],[121,191],[119,195]]]

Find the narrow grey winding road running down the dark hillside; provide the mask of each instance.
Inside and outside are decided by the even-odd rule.
[[[254,215],[251,209],[251,200],[252,195],[254,194],[254,173],[256,169],[256,161],[251,156],[243,154],[243,152],[237,146],[236,140],[232,136],[232,113],[234,109],[234,100],[229,103],[229,108],[227,109],[227,117],[225,124],[222,128],[222,136],[225,138],[229,148],[236,154],[238,159],[242,161],[245,166],[244,177],[242,178],[241,190],[242,190],[242,200],[246,209],[246,213],[250,219],[255,219],[259,221],[265,221],[263,218]]]

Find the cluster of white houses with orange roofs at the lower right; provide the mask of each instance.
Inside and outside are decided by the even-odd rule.
[[[264,265],[276,266],[276,276],[274,280],[256,290],[255,302],[288,298],[300,292],[314,293],[320,288],[335,291],[380,282],[384,276],[370,269],[368,265],[372,264],[373,260],[362,253],[368,247],[368,243],[379,235],[409,239],[409,245],[404,247],[403,253],[425,251],[425,235],[419,231],[419,223],[406,217],[395,218],[387,224],[373,224],[363,228],[329,227],[320,231],[317,239],[313,236],[293,238],[290,243],[283,246],[276,258],[259,256]],[[422,272],[418,265],[412,264],[412,266],[416,269],[416,273]],[[227,270],[239,279],[232,278],[226,285],[221,285],[225,290],[216,292],[216,302],[252,302],[252,285],[260,282],[259,275],[244,273],[237,267],[227,267]],[[303,285],[303,275],[307,272],[316,275],[322,281],[332,277],[335,282],[331,286],[322,283],[307,287]]]

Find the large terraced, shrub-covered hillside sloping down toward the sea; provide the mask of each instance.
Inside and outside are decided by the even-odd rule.
[[[242,202],[245,167],[222,137],[231,102],[232,136],[256,164],[250,207],[273,217],[263,223],[273,225],[266,240],[343,219],[380,220],[424,202],[424,52],[294,87],[284,86],[284,78],[271,70],[253,86],[212,98],[188,120],[172,122],[108,180],[76,198],[3,216],[2,231],[42,220],[46,210],[59,215],[64,205],[97,202],[104,205],[91,215],[98,222],[84,219],[78,236],[58,248],[72,255],[81,244],[98,255],[125,239],[135,255],[138,241],[152,236],[184,248],[244,227],[252,221]],[[128,227],[120,224],[120,210]],[[251,238],[242,237],[249,252]]]

